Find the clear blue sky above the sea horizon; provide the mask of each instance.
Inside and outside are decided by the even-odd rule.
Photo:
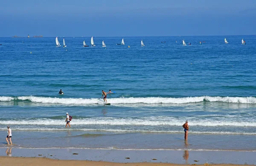
[[[256,34],[256,0],[1,0],[0,37]]]

